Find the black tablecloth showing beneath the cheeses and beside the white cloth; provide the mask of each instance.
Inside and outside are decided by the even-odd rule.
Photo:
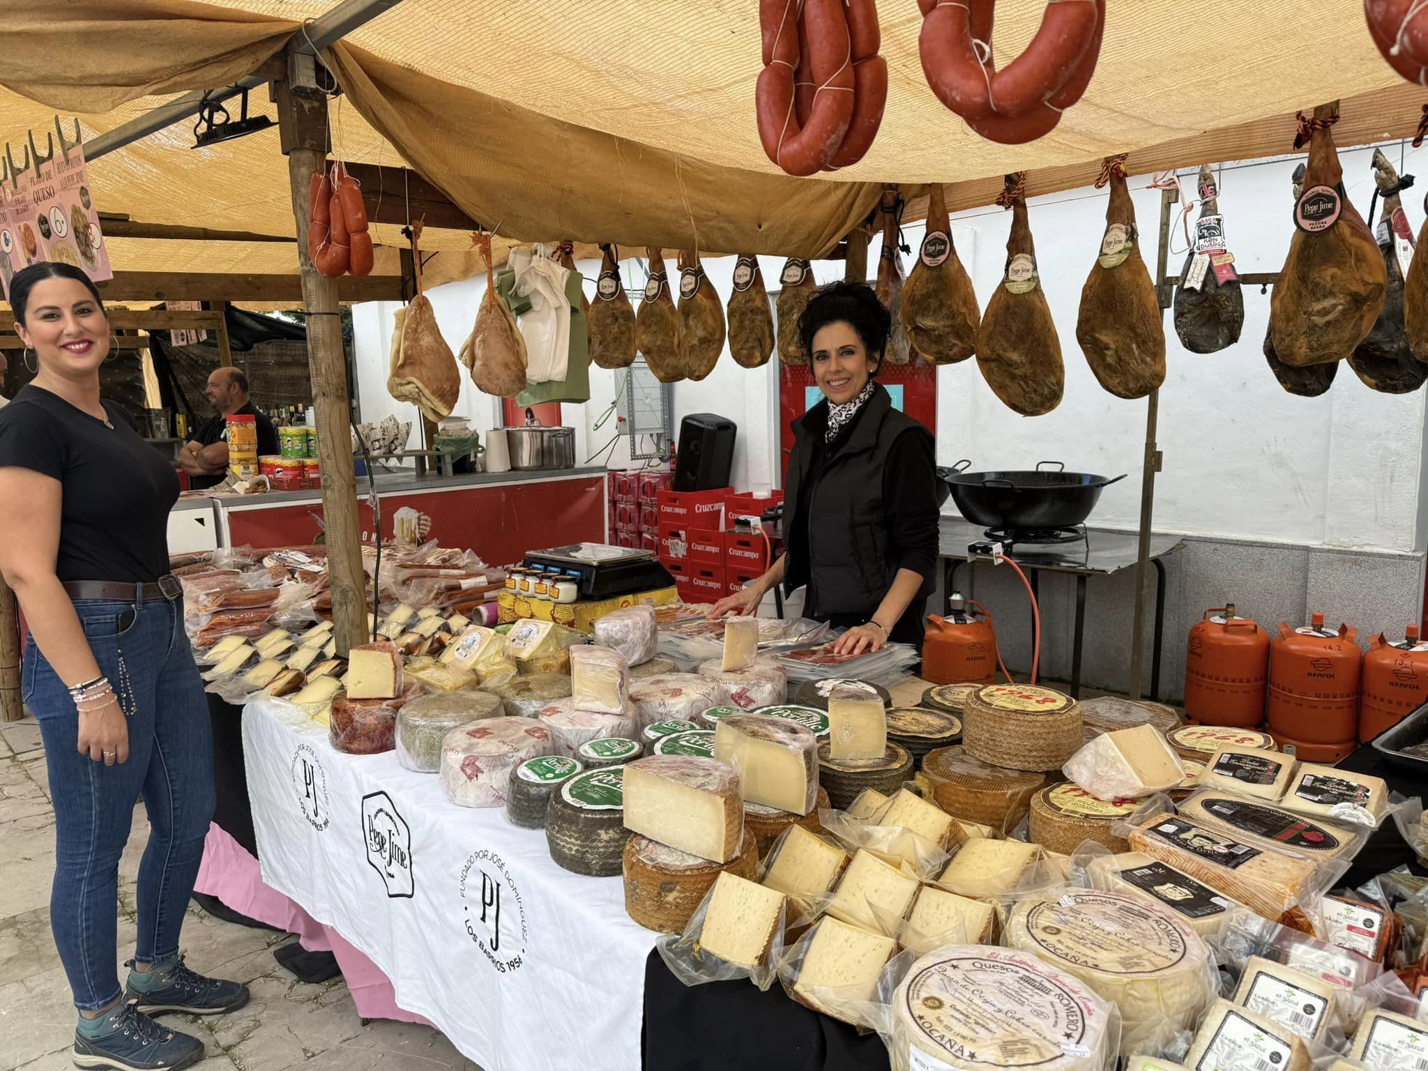
[[[257,855],[248,783],[243,763],[243,710],[208,697],[213,721],[214,780],[218,803],[214,821]],[[1361,747],[1339,763],[1347,770],[1374,774],[1404,795],[1421,795],[1412,774],[1392,765],[1372,747]],[[1394,867],[1408,864],[1422,874],[1394,824],[1385,823],[1359,851],[1341,885],[1354,888]],[[685,987],[657,951],[644,968],[644,1028],[647,1071],[885,1071],[888,1054],[875,1035],[863,1035],[827,1015],[790,1000],[778,984],[760,992],[747,981]]]

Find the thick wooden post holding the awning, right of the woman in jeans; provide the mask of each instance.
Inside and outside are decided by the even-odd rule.
[[[353,476],[351,404],[347,361],[337,314],[337,281],[323,276],[307,253],[308,191],[327,161],[327,97],[287,91],[276,83],[278,140],[287,153],[293,183],[297,258],[307,311],[307,367],[317,410],[317,453],[323,463],[323,520],[327,533],[327,575],[333,587],[333,635],[337,653],[367,641],[367,580],[361,563],[357,480]]]

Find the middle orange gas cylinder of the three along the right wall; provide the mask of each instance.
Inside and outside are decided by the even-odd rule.
[[[1281,621],[1269,644],[1269,731],[1305,744],[1355,740],[1362,664],[1348,625],[1329,631],[1318,613],[1304,628]]]

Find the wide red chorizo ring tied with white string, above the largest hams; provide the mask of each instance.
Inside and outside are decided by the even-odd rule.
[[[991,57],[994,4],[995,0],[918,0],[922,73],[948,109],[968,123],[1018,119],[1044,111],[1042,106],[1080,80],[1078,76],[1090,81],[1105,0],[1050,0],[1031,44],[1001,71]],[[1090,70],[1084,63],[1088,56]],[[1044,123],[1045,117],[1041,119]]]

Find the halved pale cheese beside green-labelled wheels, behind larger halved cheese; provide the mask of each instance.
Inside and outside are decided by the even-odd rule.
[[[784,718],[740,714],[714,730],[714,758],[734,767],[744,803],[808,814],[818,798],[818,740]]]

